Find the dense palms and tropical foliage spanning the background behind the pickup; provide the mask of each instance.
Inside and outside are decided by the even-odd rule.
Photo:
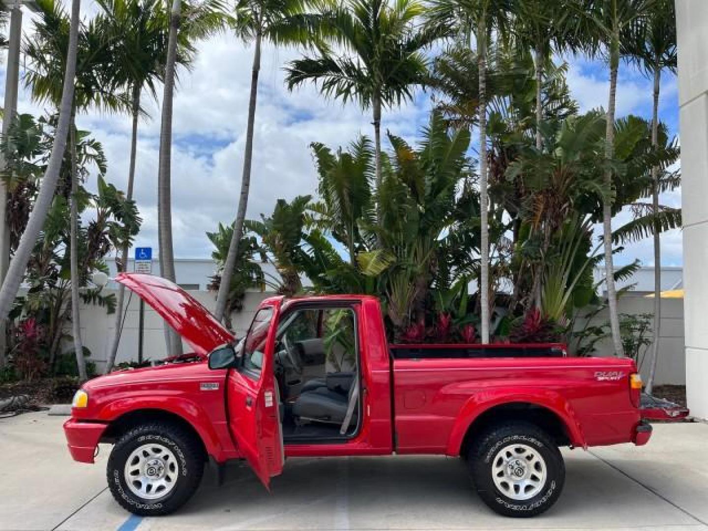
[[[117,307],[120,329],[122,291],[104,295],[89,275],[111,252],[125,268],[140,222],[139,120],[149,118],[145,94],[157,100],[160,89],[161,274],[174,278],[173,93],[198,41],[222,30],[252,46],[253,62],[238,207],[207,234],[219,319],[230,326],[248,290],[353,292],[381,299],[396,341],[562,339],[586,355],[609,331],[616,353],[636,350],[615,280],[638,265],[615,270],[612,261],[651,237],[660,263],[661,232],[681,224],[680,210],[660,201],[680,185],[678,143],[658,120],[661,75],[676,67],[673,1],[98,0],[86,18],[78,0],[70,12],[58,0],[37,3],[24,81],[47,114],[18,115],[2,139],[13,260],[0,317],[11,319],[8,353],[21,377],[62,372],[69,343],[86,376],[79,299]],[[0,10],[3,30],[6,15]],[[311,84],[324,98],[355,103],[370,114],[373,135],[345,147],[308,139],[316,190],[245,219],[253,152],[267,149],[253,142],[266,43],[302,50],[285,64],[288,89]],[[606,60],[607,108],[580,112],[558,59],[566,55]],[[654,81],[649,119],[615,116],[622,59]],[[427,125],[414,135],[382,128],[387,111],[423,101],[420,88]],[[130,116],[125,194],[105,181],[101,144],[76,127],[88,109]],[[593,270],[603,264],[598,281]],[[28,290],[16,297],[21,282]],[[604,309],[610,323],[591,323]],[[178,352],[176,338],[168,348]]]

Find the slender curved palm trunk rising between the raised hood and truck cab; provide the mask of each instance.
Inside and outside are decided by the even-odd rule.
[[[261,72],[261,32],[256,33],[256,45],[253,50],[253,69],[251,70],[251,97],[249,98],[249,118],[246,124],[246,150],[244,152],[244,173],[241,176],[241,195],[239,196],[239,208],[236,212],[234,222],[234,233],[229,243],[229,253],[222,270],[221,282],[219,282],[219,293],[217,294],[217,308],[215,316],[217,320],[223,321],[224,314],[228,306],[229,288],[231,278],[236,268],[236,258],[239,256],[239,243],[244,235],[244,221],[246,219],[246,207],[249,204],[249,188],[251,188],[251,165],[253,164],[253,129],[256,124],[256,100],[258,99],[258,74]]]

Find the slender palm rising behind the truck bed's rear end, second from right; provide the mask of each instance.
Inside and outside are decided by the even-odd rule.
[[[622,57],[621,36],[627,38],[632,28],[641,27],[654,7],[655,0],[573,0],[567,16],[575,18],[571,30],[576,42],[583,42],[590,55],[604,53],[610,66],[610,94],[605,124],[605,185],[612,186],[612,159],[615,146],[615,107],[617,74]],[[607,307],[610,309],[610,331],[615,355],[621,356],[622,335],[619,331],[615,266],[612,259],[612,195],[603,201],[603,247],[605,251],[605,284]]]

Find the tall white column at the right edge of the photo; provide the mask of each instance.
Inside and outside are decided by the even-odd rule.
[[[708,1],[676,0],[686,392],[708,418]]]

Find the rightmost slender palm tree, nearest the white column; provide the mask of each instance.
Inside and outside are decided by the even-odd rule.
[[[658,146],[658,108],[659,92],[661,90],[661,72],[668,70],[676,72],[676,13],[673,0],[658,0],[653,7],[651,17],[632,28],[622,43],[626,54],[653,79],[653,107],[651,113],[651,144]],[[656,375],[656,360],[658,359],[659,336],[661,335],[661,225],[658,222],[660,214],[659,193],[661,191],[660,171],[658,166],[651,169],[653,189],[651,205],[656,218],[653,229],[654,248],[654,322],[653,341],[649,357],[649,378],[646,382],[646,392],[651,394],[654,375]]]

